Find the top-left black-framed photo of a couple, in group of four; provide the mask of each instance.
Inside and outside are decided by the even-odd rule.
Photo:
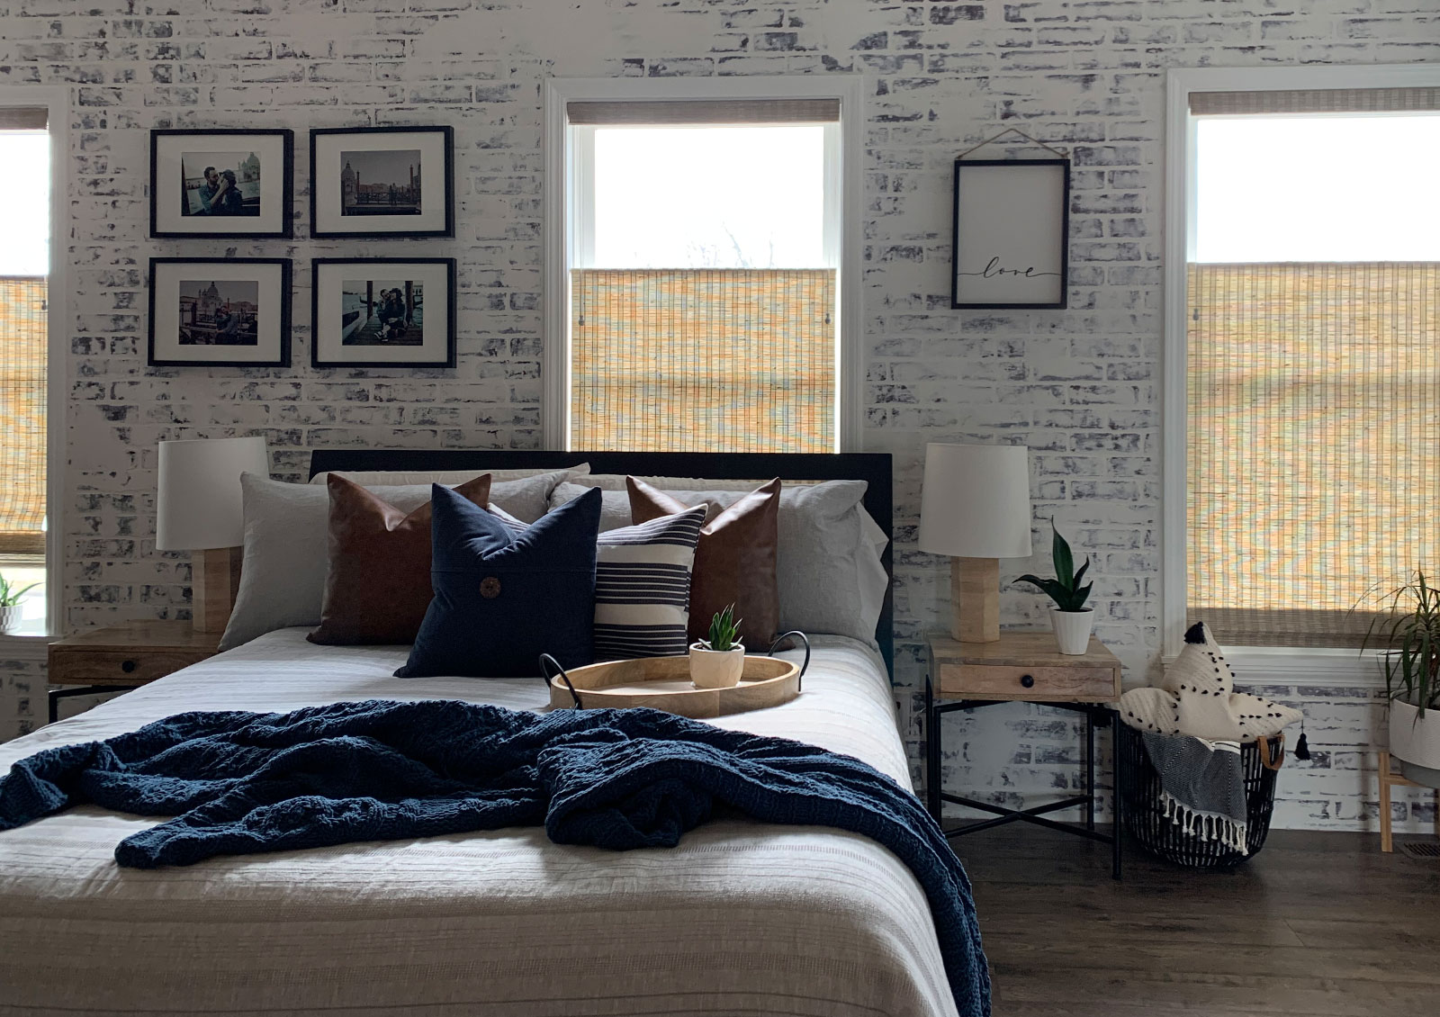
[[[151,131],[150,235],[289,239],[294,131]]]

